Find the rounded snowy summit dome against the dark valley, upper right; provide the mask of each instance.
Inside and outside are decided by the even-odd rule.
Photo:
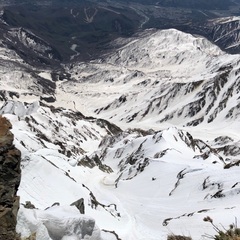
[[[177,65],[181,68],[188,65],[193,70],[196,61],[200,68],[202,62],[206,64],[210,58],[222,54],[217,46],[203,37],[168,29],[150,31],[149,34],[140,36],[106,61],[147,72],[163,68],[167,70],[173,66],[177,68]]]

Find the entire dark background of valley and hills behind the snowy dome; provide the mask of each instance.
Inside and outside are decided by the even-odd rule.
[[[0,36],[28,63],[60,67],[60,62],[93,60],[114,51],[118,37],[148,28],[176,28],[199,34],[238,53],[237,1],[9,1],[2,3]],[[224,20],[223,20],[224,21]],[[222,26],[222,27],[221,27]],[[221,38],[221,40],[220,40]]]

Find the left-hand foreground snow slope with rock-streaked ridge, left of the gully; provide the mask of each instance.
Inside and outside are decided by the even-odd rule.
[[[101,162],[92,161],[91,164],[88,163],[92,168],[95,167],[91,171],[83,167],[80,159],[95,150],[103,136],[116,134],[121,129],[105,120],[86,118],[79,112],[38,103],[7,102],[2,107],[1,114],[11,120],[15,145],[22,153],[22,179],[18,191],[21,203],[30,201],[39,209],[21,208],[18,231],[23,237],[36,232],[37,239],[50,239],[49,235],[52,239],[59,239],[55,232],[62,225],[65,225],[66,231],[59,233],[62,234],[60,239],[65,235],[79,237],[83,235],[80,226],[83,221],[91,220],[89,216],[95,219],[104,217],[106,221],[100,222],[100,226],[105,231],[108,231],[113,222],[119,223],[119,210],[111,202],[112,199],[98,199],[88,187],[88,182],[94,175],[98,179],[104,172],[112,172],[112,169]],[[99,192],[97,194],[101,196]],[[74,211],[73,207],[72,210],[67,207],[78,199],[83,199],[85,216],[77,214],[77,209]],[[54,203],[63,207],[55,206],[50,212],[43,211]],[[58,222],[58,227],[54,228],[46,221]],[[94,227],[95,221],[93,223]],[[76,227],[72,224],[76,224]],[[107,232],[104,234],[110,237],[112,235]],[[84,236],[81,239],[85,239]],[[99,233],[89,239],[100,239]]]

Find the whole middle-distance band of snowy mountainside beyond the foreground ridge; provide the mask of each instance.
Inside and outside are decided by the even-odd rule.
[[[7,47],[2,42],[2,100],[43,100],[121,125],[224,124],[239,115],[239,56],[203,37],[146,30],[115,41],[115,53],[63,72],[32,68]]]

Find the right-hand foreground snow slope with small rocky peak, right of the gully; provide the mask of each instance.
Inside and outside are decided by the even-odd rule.
[[[170,128],[106,138],[99,158],[118,169],[103,183],[131,213],[136,239],[163,239],[161,232],[168,231],[200,239],[209,231],[204,216],[220,220],[223,214],[220,221],[227,224],[239,215],[239,167],[229,168],[220,148],[187,132]]]

